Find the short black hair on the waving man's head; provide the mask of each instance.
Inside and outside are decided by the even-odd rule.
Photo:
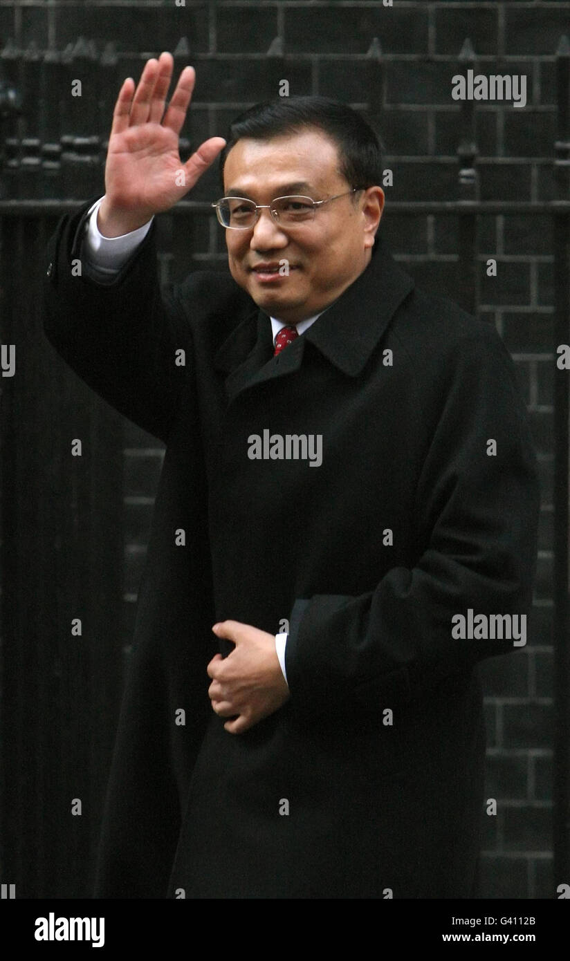
[[[235,117],[218,160],[222,190],[226,158],[237,140],[245,136],[269,140],[310,128],[321,130],[334,141],[338,173],[352,187],[382,184],[384,147],[364,118],[329,97],[294,96],[265,100]]]

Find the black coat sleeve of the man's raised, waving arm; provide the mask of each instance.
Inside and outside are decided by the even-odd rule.
[[[44,332],[83,381],[166,442],[182,388],[193,376],[190,325],[176,287],[161,290],[155,221],[112,283],[100,283],[82,262],[92,203],[64,215],[48,243]],[[175,363],[181,348],[185,366]]]

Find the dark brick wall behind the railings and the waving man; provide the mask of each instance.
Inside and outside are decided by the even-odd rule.
[[[171,2],[47,3],[2,0],[0,48],[36,42],[62,50],[80,35],[97,49],[113,41],[119,76],[138,76],[146,56],[174,52],[181,37],[197,84],[191,108],[191,142],[225,135],[227,121],[249,104],[275,96],[285,78],[290,93],[320,92],[364,107],[374,62],[367,57],[378,37],[385,65],[381,134],[385,166],[394,171],[386,188],[383,229],[398,259],[416,282],[455,297],[458,249],[453,215],[410,219],[390,213],[392,200],[455,199],[458,104],[451,77],[470,37],[483,73],[525,74],[527,106],[480,103],[477,142],[483,199],[540,201],[554,196],[556,138],[555,51],[568,30],[568,2]],[[284,58],[266,58],[276,37]],[[275,50],[275,47],[273,48]],[[278,45],[279,52],[279,45]],[[177,62],[178,63],[178,62]],[[122,72],[121,72],[122,71]],[[178,71],[177,71],[178,72]],[[87,96],[91,95],[87,91]],[[96,95],[96,94],[93,94]],[[101,184],[103,180],[101,177]],[[213,172],[193,192],[218,193]],[[164,252],[164,280],[205,263],[220,267],[224,250],[215,224],[198,218],[192,250]],[[162,218],[168,234],[171,218]],[[562,880],[552,872],[552,664],[553,582],[553,257],[549,217],[500,214],[481,224],[481,315],[505,338],[531,412],[542,476],[542,512],[534,623],[527,647],[483,665],[488,727],[486,797],[496,798],[496,817],[483,815],[483,897],[553,898]],[[180,245],[179,245],[180,246]],[[486,278],[484,263],[498,261]],[[125,447],[127,515],[127,633],[133,627],[136,586],[144,560],[162,452],[129,426]]]

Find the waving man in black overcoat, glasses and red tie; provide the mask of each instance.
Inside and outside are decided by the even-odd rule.
[[[355,111],[258,105],[183,164],[172,67],[125,81],[105,196],[48,250],[48,337],[166,445],[95,894],[468,898],[476,664],[535,563],[513,364],[391,258]],[[232,276],[161,291],[152,218],[220,152]]]

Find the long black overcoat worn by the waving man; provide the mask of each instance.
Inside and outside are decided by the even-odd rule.
[[[48,245],[45,331],[166,444],[95,896],[470,897],[476,665],[515,646],[455,639],[452,618],[527,615],[536,554],[503,341],[417,289],[381,228],[357,280],[273,357],[230,275],[161,290],[154,224],[112,283],[85,263],[73,276],[91,203]],[[252,459],[265,430],[321,435],[322,463]],[[225,619],[289,628],[290,699],[239,735],[207,693]]]

